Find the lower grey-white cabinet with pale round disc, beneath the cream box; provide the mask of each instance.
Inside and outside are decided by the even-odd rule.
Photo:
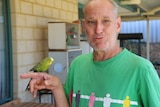
[[[54,58],[54,63],[49,68],[49,74],[55,75],[62,83],[65,83],[68,68],[72,60],[82,54],[81,49],[71,49],[67,51],[50,51],[48,56]]]

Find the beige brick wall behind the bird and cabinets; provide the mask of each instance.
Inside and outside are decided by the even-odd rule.
[[[27,73],[39,60],[48,55],[48,21],[72,22],[78,19],[77,0],[10,0],[13,38],[14,98],[37,101],[24,91]],[[44,98],[48,101],[48,98]]]

